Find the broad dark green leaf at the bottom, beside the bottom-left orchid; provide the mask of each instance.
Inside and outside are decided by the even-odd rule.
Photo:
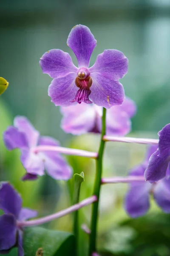
[[[36,256],[43,250],[43,256],[75,255],[75,240],[71,233],[47,230],[42,227],[27,227],[24,232],[25,256]]]

